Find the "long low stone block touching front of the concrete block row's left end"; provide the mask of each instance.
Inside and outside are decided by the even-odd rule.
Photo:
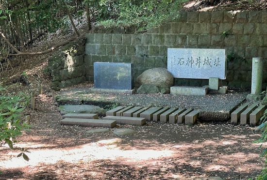
[[[119,124],[135,124],[144,125],[146,123],[146,118],[137,117],[124,117],[124,116],[106,116],[103,120],[116,120]]]

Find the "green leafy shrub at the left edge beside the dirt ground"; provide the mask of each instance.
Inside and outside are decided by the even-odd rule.
[[[24,153],[27,150],[23,148],[14,148],[16,137],[22,134],[22,131],[29,130],[30,125],[22,123],[21,113],[25,106],[29,104],[30,97],[24,93],[13,95],[5,93],[5,88],[0,87],[0,146],[7,143],[12,150],[21,150],[18,155],[28,161],[28,156]]]

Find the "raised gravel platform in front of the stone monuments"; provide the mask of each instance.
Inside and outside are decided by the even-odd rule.
[[[59,104],[84,104],[112,107],[113,105],[160,106],[193,108],[200,111],[200,119],[225,121],[228,120],[236,107],[246,101],[248,92],[230,89],[226,94],[208,93],[206,96],[179,94],[123,94],[123,93],[92,93],[88,89],[93,84],[80,84],[61,90],[56,100]]]

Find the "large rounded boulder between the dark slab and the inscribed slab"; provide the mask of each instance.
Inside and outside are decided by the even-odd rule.
[[[173,76],[166,68],[152,68],[144,71],[136,79],[140,85],[155,85],[159,89],[169,88],[173,85]]]

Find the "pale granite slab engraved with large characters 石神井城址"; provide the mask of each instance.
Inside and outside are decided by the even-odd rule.
[[[177,78],[226,79],[225,49],[168,48],[167,69]]]

